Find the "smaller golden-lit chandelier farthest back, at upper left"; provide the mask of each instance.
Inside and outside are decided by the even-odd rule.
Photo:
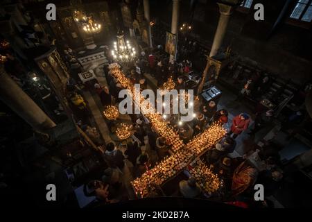
[[[85,15],[85,12],[75,10],[73,18],[83,26],[83,31],[86,33],[98,33],[101,31],[101,24],[96,23],[91,16]]]

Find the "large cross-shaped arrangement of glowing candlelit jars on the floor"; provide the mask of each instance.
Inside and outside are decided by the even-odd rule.
[[[110,67],[112,76],[133,94],[135,87],[130,82],[130,79],[126,78],[119,69],[119,65],[112,64]],[[141,96],[139,102],[135,101],[135,103],[139,103],[137,105],[141,107],[143,101],[144,97]],[[198,184],[207,194],[217,191],[222,186],[222,181],[205,164],[197,160],[196,157],[222,139],[226,130],[220,124],[214,123],[202,134],[194,137],[191,142],[184,144],[179,135],[173,130],[173,127],[164,121],[161,114],[157,112],[144,113],[144,109],[141,110],[144,116],[152,123],[155,131],[164,137],[168,144],[172,145],[173,155],[157,163],[153,169],[146,171],[140,178],[131,182],[137,196],[146,196],[149,191],[155,189],[155,185],[162,185],[166,180],[173,178],[183,169],[189,169],[190,164],[194,163],[194,161],[196,161],[196,164],[194,165],[195,167],[191,167],[190,174],[195,176]]]

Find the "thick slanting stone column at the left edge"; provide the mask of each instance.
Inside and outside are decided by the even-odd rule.
[[[55,123],[15,83],[0,65],[0,99],[40,133],[55,127]]]

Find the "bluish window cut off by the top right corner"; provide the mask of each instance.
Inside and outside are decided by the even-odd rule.
[[[291,12],[292,19],[298,19],[304,22],[312,20],[312,0],[299,0]]]

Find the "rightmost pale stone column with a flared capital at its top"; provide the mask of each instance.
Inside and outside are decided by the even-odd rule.
[[[233,6],[228,6],[228,5],[225,5],[224,3],[218,3],[218,6],[219,6],[220,18],[219,18],[216,33],[214,35],[214,42],[212,44],[211,51],[209,54],[210,57],[216,56],[216,54],[218,53],[218,50],[220,49],[220,46],[223,43],[223,39],[227,31],[227,24],[229,24],[229,17],[232,15],[232,12],[233,12]]]

